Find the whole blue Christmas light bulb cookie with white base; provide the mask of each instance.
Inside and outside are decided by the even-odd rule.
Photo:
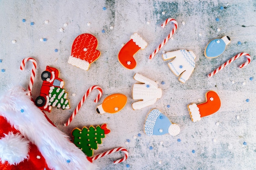
[[[220,56],[226,49],[227,44],[230,43],[230,38],[224,36],[221,39],[215,39],[209,42],[204,50],[204,56],[207,58],[215,58]]]

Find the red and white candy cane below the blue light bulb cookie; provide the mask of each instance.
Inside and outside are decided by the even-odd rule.
[[[213,72],[211,72],[208,77],[212,77],[213,75],[215,75],[216,73],[218,73],[220,70],[222,70],[222,68],[226,67],[228,64],[230,64],[231,62],[233,62],[234,60],[236,60],[237,58],[241,57],[241,56],[245,56],[247,57],[247,61],[243,64],[241,64],[239,66],[239,68],[243,68],[244,66],[246,66],[247,64],[249,64],[251,62],[251,56],[248,53],[239,53],[236,56],[232,57],[231,59],[229,59],[228,61],[226,61],[224,64],[222,64],[221,66],[219,66],[218,68],[216,68],[216,70],[214,70]]]

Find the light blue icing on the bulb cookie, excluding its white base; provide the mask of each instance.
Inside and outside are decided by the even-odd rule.
[[[217,41],[220,41],[217,43]],[[205,54],[207,57],[218,57],[221,55],[226,48],[226,44],[222,39],[212,40],[205,49]]]

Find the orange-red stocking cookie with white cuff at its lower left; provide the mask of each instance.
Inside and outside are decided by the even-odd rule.
[[[202,104],[189,104],[189,114],[193,122],[200,121],[201,117],[209,116],[220,109],[220,97],[214,91],[208,91],[205,95],[206,102]]]

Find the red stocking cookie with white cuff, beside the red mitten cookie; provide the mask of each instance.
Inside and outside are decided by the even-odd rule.
[[[128,41],[119,51],[118,60],[122,66],[128,69],[133,69],[136,67],[136,61],[133,57],[139,49],[145,49],[148,43],[143,40],[137,33],[131,36],[130,41]]]

